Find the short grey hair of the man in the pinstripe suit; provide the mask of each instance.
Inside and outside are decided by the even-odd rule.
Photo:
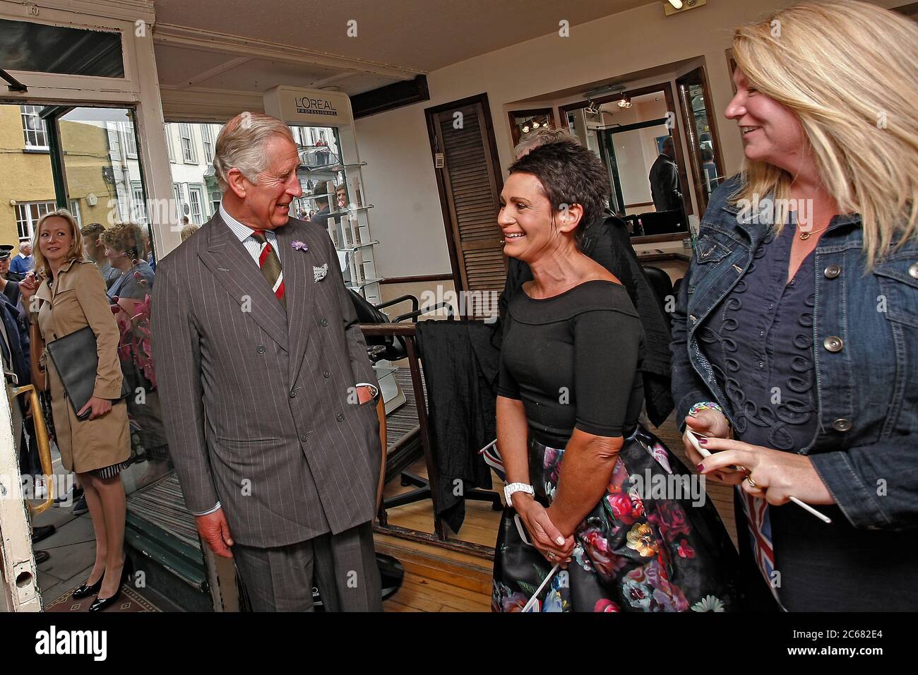
[[[264,113],[244,112],[229,120],[217,137],[214,152],[214,172],[221,192],[229,189],[229,171],[239,169],[250,183],[257,184],[258,176],[270,162],[264,144],[273,136],[283,136],[297,144],[290,128],[278,118]]]

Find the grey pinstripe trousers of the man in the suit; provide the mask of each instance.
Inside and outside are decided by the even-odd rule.
[[[311,612],[313,579],[327,612],[383,610],[373,523],[287,546],[236,544],[232,552],[252,612]]]

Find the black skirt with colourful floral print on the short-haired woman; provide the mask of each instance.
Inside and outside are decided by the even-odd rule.
[[[551,504],[565,451],[530,438],[536,499]],[[495,466],[492,462],[493,467]],[[720,516],[693,475],[639,426],[621,448],[602,499],[574,533],[573,560],[553,568],[504,510],[491,609],[520,612],[723,612],[736,610],[738,559]]]

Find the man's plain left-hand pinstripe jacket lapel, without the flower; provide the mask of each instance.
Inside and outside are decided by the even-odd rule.
[[[205,227],[208,230],[209,241],[207,250],[198,253],[201,262],[240,304],[241,311],[248,310],[252,320],[258,323],[275,343],[288,350],[284,308],[271,292],[271,287],[268,286],[258,264],[252,260],[252,256],[236,235],[229,230],[229,226],[220,218],[219,213],[210,219]],[[286,279],[286,269],[284,277]],[[246,298],[250,298],[248,302]]]

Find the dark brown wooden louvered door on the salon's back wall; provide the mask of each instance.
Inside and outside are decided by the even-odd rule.
[[[503,180],[487,95],[426,112],[453,280],[456,290],[472,291],[469,306],[462,310],[477,317],[494,316],[507,258],[498,227]]]

